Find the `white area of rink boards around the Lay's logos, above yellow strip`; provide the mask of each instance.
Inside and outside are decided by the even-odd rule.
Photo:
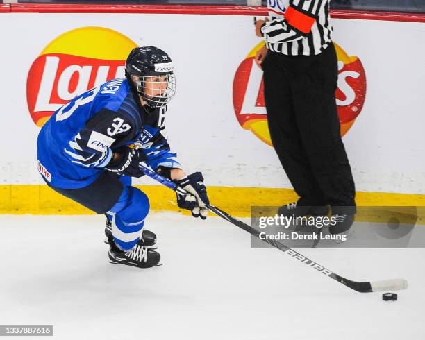
[[[233,110],[235,71],[261,41],[253,35],[252,17],[25,13],[0,18],[2,184],[43,183],[35,162],[39,128],[26,104],[33,61],[58,35],[102,26],[172,56],[177,95],[166,125],[185,169],[202,171],[207,185],[291,187],[272,147],[244,130]],[[367,78],[363,111],[344,136],[356,189],[424,194],[424,24],[334,19],[333,25],[335,42],[360,58]]]

